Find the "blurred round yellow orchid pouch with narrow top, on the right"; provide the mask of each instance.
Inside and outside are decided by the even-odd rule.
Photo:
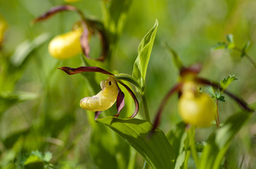
[[[208,127],[214,120],[216,106],[211,96],[199,93],[197,84],[185,82],[178,108],[185,123],[196,127]]]

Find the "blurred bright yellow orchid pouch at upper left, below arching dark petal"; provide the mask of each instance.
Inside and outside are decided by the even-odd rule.
[[[77,28],[71,32],[54,37],[49,44],[49,52],[54,58],[67,59],[81,52],[80,37],[83,29]]]

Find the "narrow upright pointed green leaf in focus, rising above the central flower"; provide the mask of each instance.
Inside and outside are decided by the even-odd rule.
[[[148,68],[149,58],[151,55],[151,50],[153,47],[153,42],[156,37],[156,30],[158,27],[158,21],[156,20],[155,25],[146,34],[139,44],[138,56],[134,62],[134,69],[132,71],[132,76],[138,80],[142,92],[144,92],[144,84],[146,78],[146,69]]]

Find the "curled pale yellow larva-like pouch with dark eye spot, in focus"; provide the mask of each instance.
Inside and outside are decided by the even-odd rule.
[[[113,77],[100,82],[101,91],[95,96],[81,99],[81,108],[88,111],[105,111],[117,100],[118,87]]]

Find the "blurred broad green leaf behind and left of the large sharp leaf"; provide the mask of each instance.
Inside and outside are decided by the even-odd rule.
[[[98,168],[127,168],[129,146],[103,124],[97,124],[91,134],[90,152]],[[118,156],[117,156],[118,154]]]

